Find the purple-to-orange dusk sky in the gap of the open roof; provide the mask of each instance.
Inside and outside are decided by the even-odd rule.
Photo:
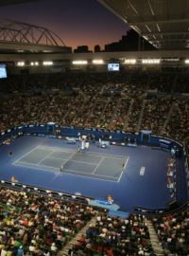
[[[47,27],[73,49],[89,46],[93,50],[95,45],[104,49],[129,29],[96,0],[43,0],[0,7],[0,17]]]

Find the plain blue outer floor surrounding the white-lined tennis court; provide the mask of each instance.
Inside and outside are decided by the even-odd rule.
[[[173,200],[166,186],[169,152],[142,145],[136,148],[110,146],[105,150],[105,154],[129,156],[128,165],[120,182],[12,165],[15,160],[39,145],[77,149],[76,145],[69,145],[63,139],[33,136],[17,137],[10,145],[0,147],[0,179],[10,180],[11,176],[14,175],[23,184],[48,190],[80,192],[84,196],[103,199],[112,195],[114,202],[120,206],[120,209],[126,211],[133,211],[135,207],[150,210],[165,209],[167,204]],[[101,154],[101,150],[96,145],[90,149],[91,152],[98,154]],[[10,151],[12,155],[9,155]],[[180,168],[177,195],[180,202],[187,199],[182,160],[182,158],[177,160]],[[141,167],[146,168],[144,175],[140,175]]]

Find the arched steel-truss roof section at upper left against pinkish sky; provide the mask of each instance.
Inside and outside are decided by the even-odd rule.
[[[0,23],[0,52],[71,52],[53,31],[36,25],[5,20]]]

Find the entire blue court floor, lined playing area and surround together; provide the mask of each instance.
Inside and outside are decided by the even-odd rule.
[[[96,199],[111,195],[125,211],[163,209],[172,200],[167,189],[167,152],[146,146],[102,149],[91,144],[82,154],[77,148],[78,142],[72,145],[58,138],[17,137],[0,147],[0,179],[14,175],[23,184]]]

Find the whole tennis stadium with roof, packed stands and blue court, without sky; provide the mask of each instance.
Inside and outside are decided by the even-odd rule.
[[[189,255],[188,1],[97,2],[137,50],[0,27],[2,256]]]

